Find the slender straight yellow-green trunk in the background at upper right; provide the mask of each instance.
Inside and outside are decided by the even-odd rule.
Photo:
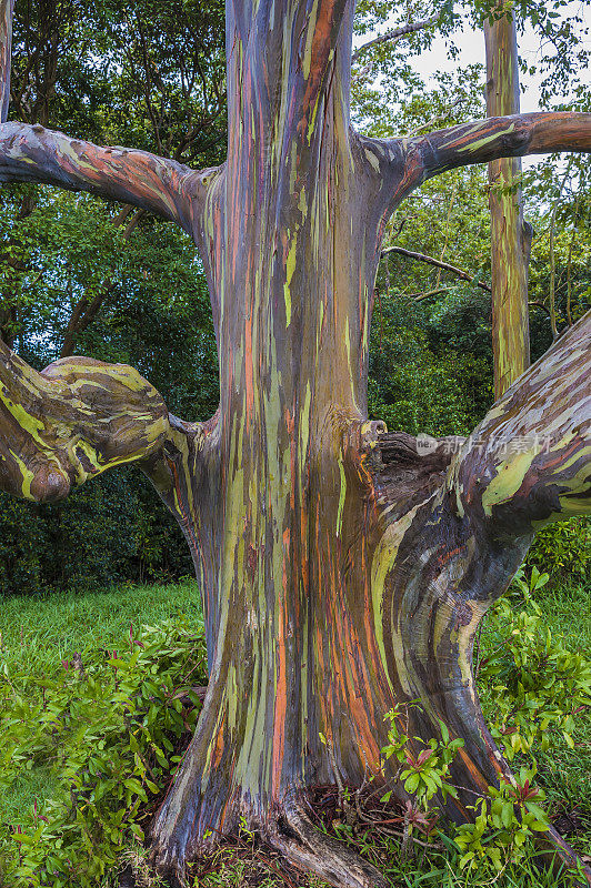
[[[498,11],[498,8],[494,10]],[[514,11],[484,23],[487,113],[519,114],[519,59]],[[530,363],[528,263],[531,235],[523,221],[521,160],[489,163],[491,214],[492,350],[494,396]]]

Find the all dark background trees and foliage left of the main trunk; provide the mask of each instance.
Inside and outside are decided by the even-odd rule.
[[[214,164],[226,151],[223,78],[221,2],[17,4],[19,120]],[[0,336],[33,366],[67,353],[130,363],[172,412],[216,410],[207,287],[181,232],[132,208],[14,186],[2,190],[0,240]],[[137,471],[58,505],[0,496],[1,593],[190,572],[180,533]]]

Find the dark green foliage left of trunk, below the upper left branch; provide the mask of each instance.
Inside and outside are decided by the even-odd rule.
[[[8,236],[11,208],[0,225]],[[110,230],[112,212],[72,194],[43,194],[19,230],[19,351],[41,369],[58,357],[80,291],[111,291],[80,332],[82,354],[131,364],[166,393],[184,418],[217,406],[216,346],[200,264],[188,239],[147,219],[129,243]],[[37,289],[36,289],[37,287]],[[73,294],[73,295],[72,295]],[[138,470],[118,470],[67,502],[31,505],[0,495],[0,591],[37,593],[110,582],[181,576],[192,571],[177,525]]]

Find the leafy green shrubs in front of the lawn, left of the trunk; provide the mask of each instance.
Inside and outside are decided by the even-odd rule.
[[[58,790],[0,834],[7,888],[96,888],[143,840],[143,809],[192,734],[206,682],[201,630],[167,620],[129,633],[129,652],[63,662],[57,677],[0,674],[0,790],[46,764]]]

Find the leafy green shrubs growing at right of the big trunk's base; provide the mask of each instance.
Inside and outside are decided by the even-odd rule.
[[[457,795],[449,766],[463,740],[450,741],[449,731],[441,724],[441,740],[432,738],[425,744],[413,738],[423,746],[413,755],[404,729],[407,707],[399,706],[387,715],[389,743],[382,756],[395,756],[400,763],[395,780],[410,794],[402,849],[404,841],[412,838],[413,826],[418,826],[428,841],[441,840],[458,855],[458,868],[467,870],[474,885],[490,885],[491,878],[495,881],[510,864],[535,856],[535,833],[550,826],[541,805],[544,793],[532,784],[535,756],[558,738],[572,748],[574,717],[591,705],[591,662],[568,650],[543,626],[534,597],[548,582],[549,575],[535,566],[529,575],[520,569],[489,617],[493,650],[479,664],[479,677],[490,697],[489,726],[505,757],[514,760],[527,756],[529,767],[522,766],[518,777],[501,781],[499,787],[489,786],[487,797],[472,806],[472,823],[458,826],[451,836],[445,836],[435,828],[437,810],[434,816],[430,810],[435,795],[443,799]],[[388,803],[391,795],[392,790],[388,790],[382,801]],[[570,878],[570,874],[567,876]]]

